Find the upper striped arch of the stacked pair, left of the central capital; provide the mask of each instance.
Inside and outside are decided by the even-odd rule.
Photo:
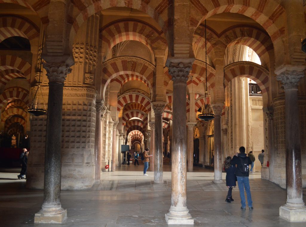
[[[120,19],[112,21],[99,30],[102,39],[102,53],[106,56],[111,52],[112,47],[125,40],[135,40],[143,43],[154,53],[156,49],[166,49],[167,41],[162,31],[152,25],[132,19]]]

